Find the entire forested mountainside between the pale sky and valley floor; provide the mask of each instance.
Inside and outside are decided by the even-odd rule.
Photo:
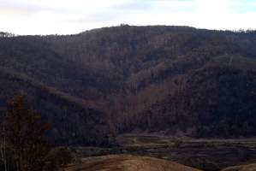
[[[27,93],[56,143],[107,144],[138,129],[256,135],[254,31],[124,25],[1,35],[1,104]]]

